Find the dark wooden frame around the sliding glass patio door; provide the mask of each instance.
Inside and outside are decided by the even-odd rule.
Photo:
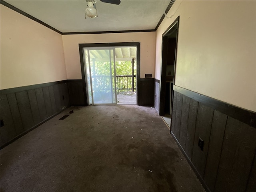
[[[79,54],[80,54],[80,64],[81,64],[81,72],[82,72],[82,82],[83,82],[83,92],[84,92],[84,102],[85,106],[88,106],[88,98],[87,98],[87,88],[86,88],[86,76],[85,76],[85,68],[84,65],[84,48],[89,47],[128,47],[128,46],[136,46],[137,51],[137,69],[136,69],[136,96],[137,96],[137,105],[140,103],[140,42],[122,42],[122,43],[83,43],[79,44]]]

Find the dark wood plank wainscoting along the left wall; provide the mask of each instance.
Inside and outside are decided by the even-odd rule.
[[[1,90],[1,148],[68,106],[66,80]]]

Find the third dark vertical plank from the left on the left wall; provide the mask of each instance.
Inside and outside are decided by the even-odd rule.
[[[28,130],[34,126],[34,120],[33,120],[32,111],[30,108],[30,102],[28,99],[27,91],[17,92],[16,98],[17,98],[24,130]]]

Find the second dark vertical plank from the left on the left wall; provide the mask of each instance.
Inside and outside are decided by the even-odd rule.
[[[12,119],[14,120],[16,134],[19,135],[22,132],[24,132],[24,128],[23,128],[23,124],[20,116],[20,110],[18,107],[15,93],[7,94],[7,99],[8,99],[10,110],[12,113]]]

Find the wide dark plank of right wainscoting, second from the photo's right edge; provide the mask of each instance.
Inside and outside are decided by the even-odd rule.
[[[215,192],[246,190],[256,149],[255,138],[255,128],[228,117]]]

